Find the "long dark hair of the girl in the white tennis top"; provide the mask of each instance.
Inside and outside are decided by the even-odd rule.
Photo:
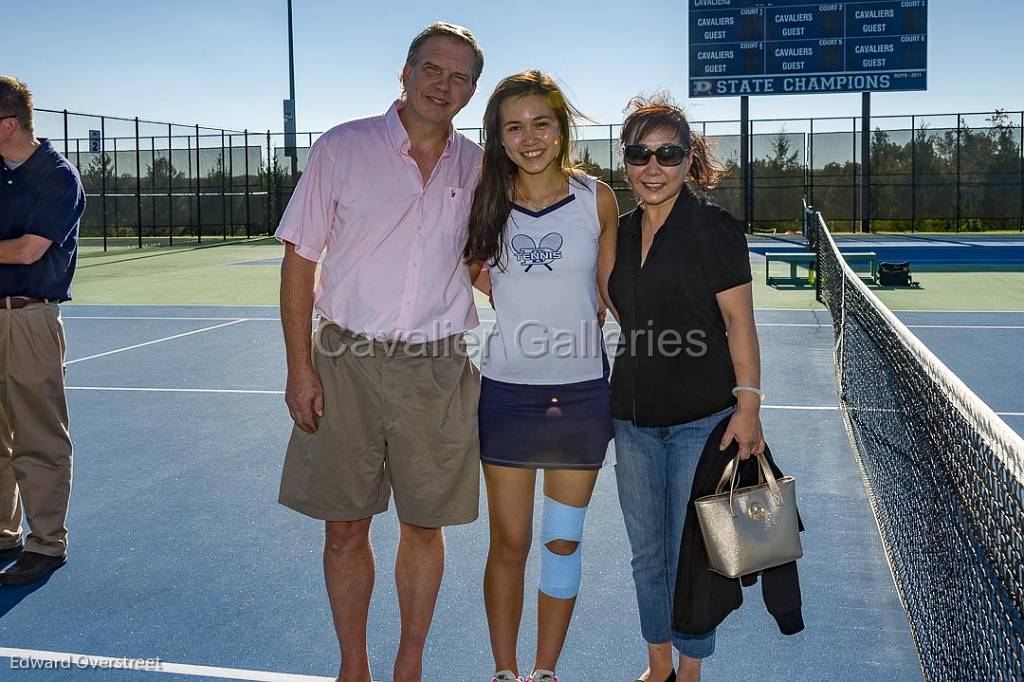
[[[572,135],[577,120],[587,119],[562,94],[554,79],[536,69],[509,76],[495,88],[483,112],[483,169],[469,212],[469,239],[463,257],[501,265],[505,223],[512,212],[516,165],[502,146],[502,102],[523,95],[547,97],[558,120],[558,166],[565,177],[572,175]]]

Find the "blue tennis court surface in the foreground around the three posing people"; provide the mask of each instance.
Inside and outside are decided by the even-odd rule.
[[[489,312],[481,316],[493,318]],[[276,308],[68,305],[63,314],[76,447],[70,562],[44,585],[0,590],[0,656],[7,656],[0,678],[332,679],[338,650],[321,569],[322,524],[275,502],[291,426]],[[1024,347],[1024,313],[900,316],[1024,432],[1019,372],[1012,371]],[[719,630],[706,679],[921,679],[837,409],[827,312],[759,310],[758,321],[765,432],[797,477],[807,525],[800,563],[807,629],[779,635],[760,588],[749,589]],[[480,520],[445,531],[446,572],[424,679],[468,682],[493,672],[481,503]],[[375,678],[389,680],[398,637],[393,512],[375,521],[373,534],[371,662]],[[538,567],[535,552],[528,588]],[[635,679],[645,648],[608,468],[587,519],[584,571],[559,677]],[[526,603],[523,665],[536,632],[529,589]],[[163,673],[25,670],[13,678],[8,658],[17,650],[160,658]]]

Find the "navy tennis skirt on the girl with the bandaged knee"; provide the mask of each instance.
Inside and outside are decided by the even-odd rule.
[[[480,383],[480,460],[531,469],[599,469],[612,437],[607,366],[572,384]]]

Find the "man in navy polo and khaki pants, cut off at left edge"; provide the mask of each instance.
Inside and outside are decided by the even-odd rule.
[[[84,211],[78,171],[35,136],[29,88],[0,76],[0,561],[17,559],[2,585],[34,583],[68,560],[72,444],[57,303],[71,298]]]

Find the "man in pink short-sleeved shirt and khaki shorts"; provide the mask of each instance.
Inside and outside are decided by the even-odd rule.
[[[477,317],[461,254],[481,150],[452,120],[482,70],[469,31],[426,28],[410,46],[402,98],[316,140],[276,232],[295,421],[280,500],[327,522],[342,682],[372,679],[370,523],[391,488],[400,522],[396,682],[421,679],[444,568],[441,527],[478,514],[479,382],[463,340]]]

